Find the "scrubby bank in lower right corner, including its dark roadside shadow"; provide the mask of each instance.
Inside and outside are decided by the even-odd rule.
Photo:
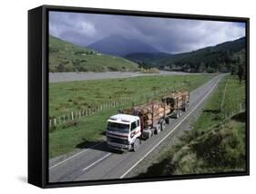
[[[209,131],[188,131],[137,178],[244,171],[244,129],[244,122],[229,120]]]

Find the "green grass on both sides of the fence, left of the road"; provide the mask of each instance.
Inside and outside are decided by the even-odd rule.
[[[50,115],[59,115],[97,103],[108,102],[109,99],[133,97],[143,92],[158,90],[159,87],[177,85],[176,89],[189,91],[207,82],[213,75],[179,75],[179,76],[142,76],[126,79],[111,79],[85,82],[61,82],[50,84]],[[179,83],[179,84],[177,84]],[[183,83],[183,84],[180,84]],[[69,102],[71,100],[71,102]],[[76,103],[74,103],[76,102]],[[131,105],[126,105],[130,107]],[[49,157],[83,148],[87,144],[104,140],[106,121],[110,115],[117,113],[116,107],[98,112],[89,117],[81,117],[78,121],[67,123],[49,133]]]

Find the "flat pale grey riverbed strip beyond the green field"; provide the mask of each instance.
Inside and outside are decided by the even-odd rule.
[[[160,73],[133,73],[133,72],[108,72],[108,73],[49,73],[49,82],[73,82],[82,80],[100,80],[109,78],[127,78],[145,75],[189,75],[197,73],[180,73],[160,71]]]

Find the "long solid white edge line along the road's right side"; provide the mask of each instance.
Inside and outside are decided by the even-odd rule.
[[[220,81],[220,78],[219,78],[218,82],[219,82],[219,81]],[[140,161],[144,160],[144,159],[148,156],[149,153],[151,153],[153,150],[155,150],[155,149],[159,146],[159,144],[160,144],[162,141],[165,141],[165,139],[167,139],[167,138],[169,137],[169,135],[170,135],[173,131],[175,131],[175,130],[179,127],[179,125],[180,125],[183,121],[185,121],[185,120],[189,117],[189,115],[190,115],[192,112],[194,112],[194,111],[200,106],[201,102],[203,102],[203,101],[209,96],[210,92],[213,91],[213,89],[216,87],[216,85],[218,84],[218,82],[216,82],[216,83],[214,84],[214,86],[212,86],[212,88],[210,89],[210,91],[207,92],[207,94],[206,94],[206,95],[201,99],[201,101],[194,107],[194,109],[193,109],[191,112],[189,112],[189,114],[188,114],[186,117],[184,117],[181,121],[179,121],[179,123],[173,128],[172,131],[169,131],[169,133],[168,133],[161,141],[159,141],[151,150],[148,150],[148,152],[147,152],[140,160],[138,160],[129,170],[127,170],[121,177],[119,177],[119,179],[124,178],[124,177],[128,174],[128,172],[130,172],[130,170],[132,170],[134,167],[136,167]]]

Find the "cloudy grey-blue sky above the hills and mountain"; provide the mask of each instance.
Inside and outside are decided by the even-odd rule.
[[[154,46],[161,52],[182,53],[245,36],[245,24],[50,12],[49,32],[80,45],[92,44],[109,35],[118,34]]]

